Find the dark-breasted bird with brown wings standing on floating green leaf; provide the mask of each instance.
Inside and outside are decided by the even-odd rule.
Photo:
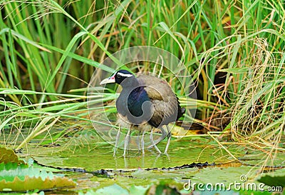
[[[167,145],[165,154],[167,154],[168,146],[170,145],[171,132],[168,124],[177,121],[185,114],[185,108],[180,106],[180,101],[167,81],[156,76],[141,74],[135,77],[130,71],[122,69],[116,71],[113,76],[103,79],[100,85],[103,84],[119,84],[122,86],[122,91],[115,102],[118,111],[119,119],[123,119],[128,124],[129,131],[125,137],[124,154],[128,150],[130,141],[130,129],[142,127],[142,154],[144,151],[144,134],[145,125],[151,128],[150,141],[157,152],[161,154],[153,141],[153,128],[162,131],[162,139],[167,136]],[[121,123],[120,123],[121,124]],[[162,126],[167,127],[167,132]],[[115,150],[118,146],[120,138],[120,129],[115,141]],[[115,151],[114,150],[114,156]]]

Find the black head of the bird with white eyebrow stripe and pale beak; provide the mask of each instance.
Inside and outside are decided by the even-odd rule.
[[[135,79],[135,76],[133,74],[131,74],[129,71],[127,70],[120,70],[117,71],[115,74],[113,74],[113,76],[110,76],[107,79],[103,79],[103,81],[100,82],[100,84],[122,84],[122,82],[127,80],[133,80]]]

